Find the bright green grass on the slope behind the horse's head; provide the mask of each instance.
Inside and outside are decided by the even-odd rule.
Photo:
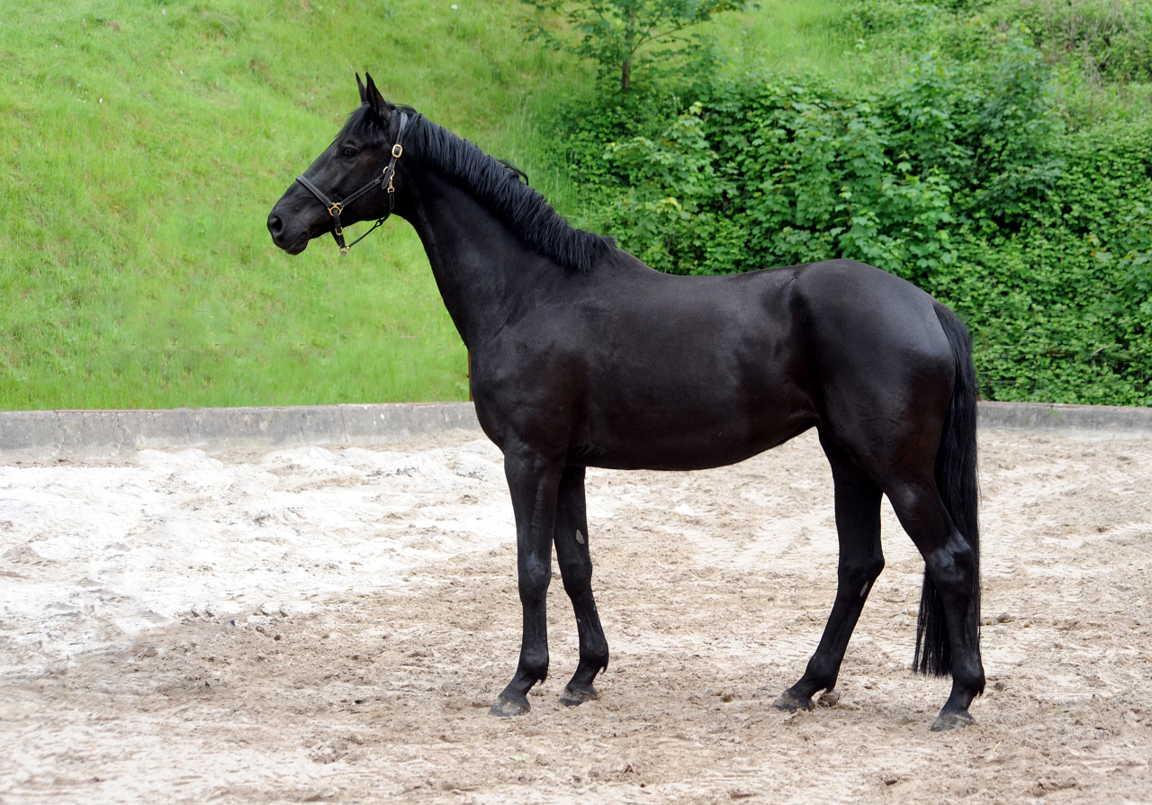
[[[372,72],[566,210],[537,111],[592,70],[523,45],[517,0],[7,3],[0,28],[0,408],[467,397],[415,233],[298,257],[265,219]],[[833,2],[717,25],[742,63],[843,70]]]

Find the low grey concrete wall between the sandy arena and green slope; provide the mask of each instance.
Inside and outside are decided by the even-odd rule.
[[[980,402],[985,430],[1086,438],[1150,438],[1152,408]],[[276,447],[388,444],[457,428],[479,431],[471,402],[286,408],[0,412],[0,458],[112,457],[145,447]]]

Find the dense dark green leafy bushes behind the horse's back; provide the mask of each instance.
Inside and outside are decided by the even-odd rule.
[[[986,398],[1150,405],[1152,121],[1070,133],[1024,32],[987,55],[873,92],[757,73],[584,99],[558,156],[654,268],[865,261],[964,316]]]

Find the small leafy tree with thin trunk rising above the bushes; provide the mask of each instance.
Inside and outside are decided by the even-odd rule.
[[[632,85],[632,65],[641,51],[650,60],[667,60],[688,50],[704,50],[710,43],[689,28],[707,22],[721,12],[756,8],[749,0],[522,0],[539,12],[559,14],[570,33],[543,24],[525,25],[529,39],[593,59],[602,73],[620,72],[620,91]],[[660,46],[664,46],[661,50]]]

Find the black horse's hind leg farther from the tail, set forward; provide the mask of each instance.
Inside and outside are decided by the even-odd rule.
[[[836,601],[804,676],[774,702],[780,709],[789,712],[812,709],[812,695],[835,686],[848,640],[856,629],[872,582],[884,570],[880,487],[823,430],[820,444],[832,465],[835,483],[836,535],[840,540]]]

